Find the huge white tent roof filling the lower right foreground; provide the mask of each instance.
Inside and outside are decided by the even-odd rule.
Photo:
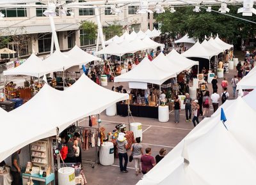
[[[256,180],[251,174],[256,161],[255,111],[241,98],[234,107],[225,110],[228,130],[220,121],[220,114],[204,119],[138,185],[253,184]],[[243,114],[248,117],[246,125]],[[189,164],[184,163],[184,158]]]

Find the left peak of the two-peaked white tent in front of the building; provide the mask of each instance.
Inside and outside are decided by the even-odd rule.
[[[28,75],[38,78],[38,72],[42,68],[42,59],[35,54],[31,54],[28,59],[17,68],[3,71],[3,75]]]

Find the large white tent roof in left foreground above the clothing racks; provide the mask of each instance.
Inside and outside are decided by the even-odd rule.
[[[97,97],[98,101],[88,97]],[[129,94],[109,91],[85,75],[66,91],[58,91],[45,84],[35,97],[21,107],[7,115],[0,112],[1,128],[5,130],[2,136],[10,137],[8,131],[12,131],[8,144],[5,140],[0,141],[0,161],[31,142],[56,135],[56,128],[61,132],[78,119],[100,114],[113,103],[128,98]]]

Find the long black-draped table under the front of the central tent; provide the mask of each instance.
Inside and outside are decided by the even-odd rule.
[[[117,115],[127,116],[128,105],[125,103],[116,103]],[[158,107],[147,105],[130,105],[132,116],[158,118]]]

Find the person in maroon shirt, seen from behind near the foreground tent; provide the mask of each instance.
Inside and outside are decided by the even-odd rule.
[[[146,154],[141,156],[141,172],[142,174],[147,174],[155,165],[155,159],[151,156],[151,148],[147,148]]]

